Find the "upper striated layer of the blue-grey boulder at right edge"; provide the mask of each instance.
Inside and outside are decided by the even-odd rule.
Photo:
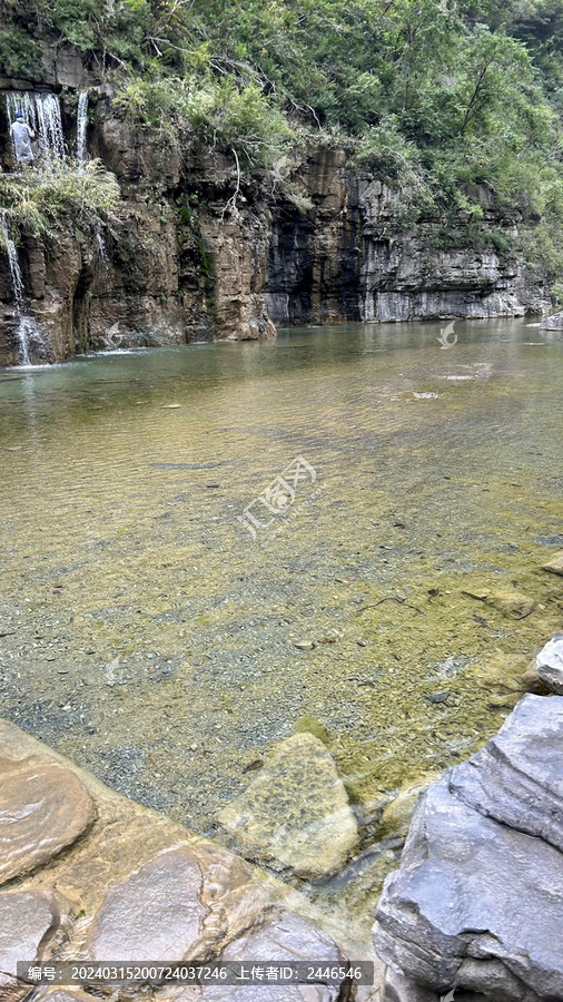
[[[563,852],[563,697],[524,696],[447,778],[467,806]]]

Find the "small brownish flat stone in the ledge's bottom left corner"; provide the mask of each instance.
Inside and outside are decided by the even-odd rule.
[[[18,961],[40,961],[60,925],[55,896],[47,891],[0,894],[0,1000],[18,1002],[30,991],[16,979]]]

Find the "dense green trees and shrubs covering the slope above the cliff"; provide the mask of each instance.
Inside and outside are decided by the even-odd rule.
[[[29,76],[41,36],[119,87],[121,114],[241,170],[345,141],[403,190],[408,222],[534,223],[563,274],[560,0],[9,0],[0,65]],[[2,70],[0,70],[2,71]]]

